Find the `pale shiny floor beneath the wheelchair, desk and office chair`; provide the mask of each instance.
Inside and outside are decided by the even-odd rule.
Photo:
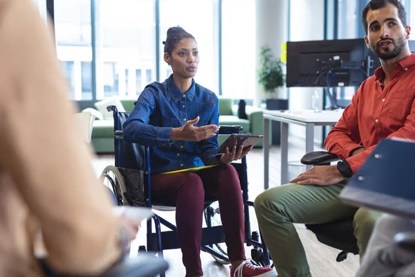
[[[288,152],[289,161],[299,161],[304,154],[304,148],[302,143],[294,142],[290,143]],[[273,146],[270,150],[270,186],[279,186],[279,148]],[[261,149],[254,149],[248,154],[248,181],[249,181],[249,196],[253,201],[259,193],[264,191],[264,158]],[[101,155],[93,161],[93,167],[97,175],[104,169],[105,166],[113,164],[113,155]],[[293,174],[300,171],[298,166],[291,167]],[[160,213],[162,217],[165,217],[170,222],[175,222],[174,212]],[[252,231],[258,230],[257,220],[255,217],[255,211],[250,210],[251,216],[251,229]],[[131,246],[131,256],[136,256],[136,251],[139,245],[145,245],[145,222],[142,224],[142,229],[138,233],[137,239]],[[306,249],[308,263],[311,267],[311,273],[315,277],[351,277],[356,274],[359,265],[359,257],[349,254],[347,260],[343,262],[336,262],[335,258],[339,251],[331,247],[327,247],[324,244],[318,242],[311,233],[308,231],[304,224],[296,224],[299,237],[302,239],[304,248]],[[250,247],[246,247],[246,254],[249,258]],[[166,276],[180,277],[185,276],[185,268],[181,262],[180,249],[165,251],[165,259],[169,262],[169,270]],[[203,264],[204,276],[207,277],[221,277],[230,276],[229,266],[219,265],[214,262],[213,258],[207,253],[201,253],[201,260]]]

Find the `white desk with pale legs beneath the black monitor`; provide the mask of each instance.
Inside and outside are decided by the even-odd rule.
[[[314,112],[264,110],[264,188],[269,188],[270,120],[281,122],[281,184],[288,183],[288,123],[306,127],[306,153],[314,151],[314,126],[333,126],[343,110]],[[306,166],[308,170],[311,166]]]

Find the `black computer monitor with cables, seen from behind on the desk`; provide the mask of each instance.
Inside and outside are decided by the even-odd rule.
[[[287,42],[287,87],[358,87],[371,73],[364,39]]]

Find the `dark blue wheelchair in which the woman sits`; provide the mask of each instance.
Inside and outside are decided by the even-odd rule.
[[[119,112],[116,106],[108,106],[113,111],[115,166],[107,166],[102,172],[101,179],[116,195],[118,205],[146,206],[156,211],[174,211],[174,206],[151,201],[151,167],[148,146],[127,143],[122,139],[122,125],[127,120],[129,112]],[[221,126],[219,134],[241,134],[241,126]],[[248,199],[248,177],[246,172],[246,157],[241,163],[232,163],[239,174],[244,204],[246,244],[252,246],[252,260],[259,265],[268,267],[270,259],[268,250],[258,231],[250,230],[249,207],[253,202]],[[228,265],[230,260],[224,247],[225,235],[220,220],[220,208],[217,199],[206,198],[204,218],[206,227],[202,230],[201,251],[210,253],[217,262]],[[155,231],[151,220],[154,222]],[[160,231],[160,224],[171,231]],[[163,217],[155,215],[147,221],[147,247],[140,246],[138,251],[158,253],[163,257],[163,250],[179,249],[176,226]],[[260,239],[261,238],[261,239]],[[164,276],[161,274],[160,276]]]

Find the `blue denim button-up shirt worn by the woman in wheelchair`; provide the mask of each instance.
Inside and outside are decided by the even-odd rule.
[[[221,163],[217,136],[204,141],[170,141],[172,129],[199,116],[195,127],[219,125],[219,100],[196,84],[183,93],[173,82],[153,82],[138,97],[124,123],[124,140],[151,146],[151,174]]]

